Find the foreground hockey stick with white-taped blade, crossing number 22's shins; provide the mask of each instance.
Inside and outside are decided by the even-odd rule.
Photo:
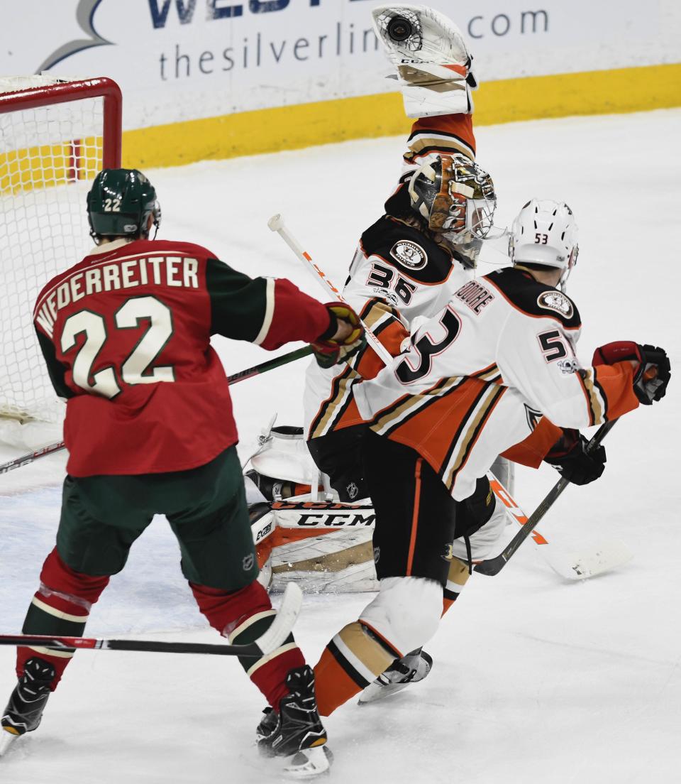
[[[301,612],[303,593],[295,583],[288,583],[281,606],[265,633],[246,645],[219,645],[188,642],[158,642],[154,640],[101,640],[95,637],[52,637],[41,634],[0,634],[0,645],[38,645],[55,651],[74,648],[96,651],[138,651],[152,653],[207,653],[218,656],[243,656],[261,659],[286,641]]]

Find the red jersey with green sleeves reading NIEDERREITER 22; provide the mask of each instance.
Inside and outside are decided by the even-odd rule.
[[[209,462],[238,438],[211,335],[275,349],[330,317],[290,281],[248,278],[200,245],[117,240],[49,281],[34,324],[67,398],[67,470],[87,477]]]

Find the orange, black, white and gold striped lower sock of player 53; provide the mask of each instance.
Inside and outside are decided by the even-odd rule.
[[[319,715],[330,716],[399,658],[362,623],[348,623],[326,645],[315,666]]]

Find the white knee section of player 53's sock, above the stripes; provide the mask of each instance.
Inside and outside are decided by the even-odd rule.
[[[433,637],[441,614],[440,583],[423,577],[388,577],[380,581],[377,597],[362,610],[359,622],[402,658]]]

